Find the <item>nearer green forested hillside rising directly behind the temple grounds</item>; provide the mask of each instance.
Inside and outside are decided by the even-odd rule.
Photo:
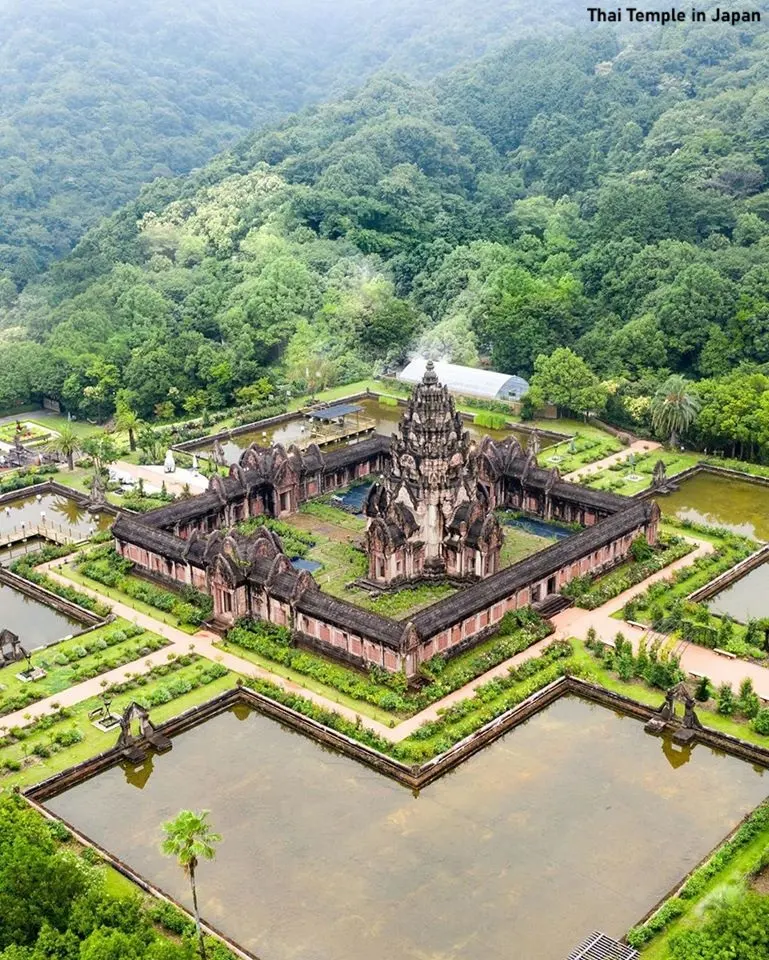
[[[522,37],[257,131],[9,304],[0,405],[103,417],[122,388],[183,415],[415,346],[524,376],[570,347],[615,421],[648,426],[680,373],[702,444],[766,450],[767,46],[761,25]]]

